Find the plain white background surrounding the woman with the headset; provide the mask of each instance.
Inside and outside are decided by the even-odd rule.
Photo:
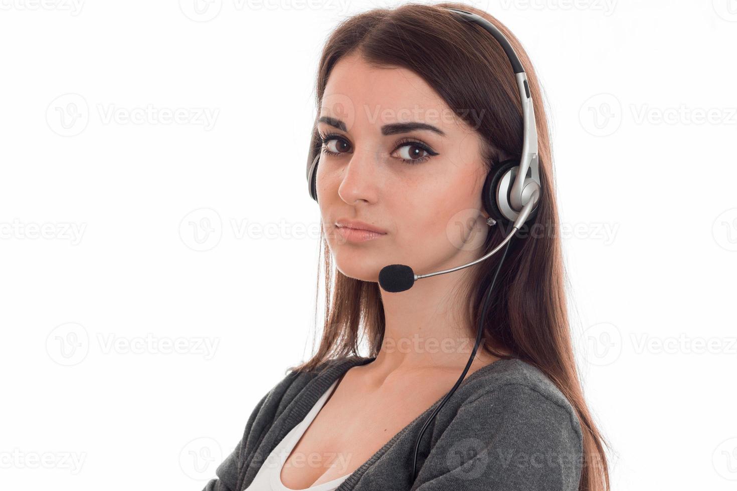
[[[548,99],[613,489],[735,489],[737,1],[475,4]],[[309,354],[318,56],[388,3],[199,5],[0,0],[3,489],[200,490]]]

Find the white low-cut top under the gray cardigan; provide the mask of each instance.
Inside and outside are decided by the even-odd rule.
[[[315,406],[312,406],[312,409],[310,409],[310,412],[304,417],[304,420],[292,428],[292,430],[287,433],[287,436],[279,442],[279,445],[276,445],[276,448],[269,453],[269,456],[266,458],[259,469],[259,472],[256,474],[254,481],[252,481],[251,484],[243,491],[294,491],[292,488],[286,487],[282,484],[281,474],[284,462],[287,462],[287,457],[292,453],[292,449],[297,445],[297,442],[304,432],[307,431],[307,427],[310,426],[310,423],[315,419],[315,416],[318,415],[318,412],[322,409],[325,401],[332,394],[335,386],[338,385],[339,380],[340,379],[336,380],[331,386],[329,386],[321,398],[319,398],[315,403]],[[296,491],[335,491],[335,488],[340,486],[348,476],[350,476],[350,474],[333,479],[332,481],[324,482],[323,484],[318,484],[317,486],[307,487],[304,488],[304,490]]]

